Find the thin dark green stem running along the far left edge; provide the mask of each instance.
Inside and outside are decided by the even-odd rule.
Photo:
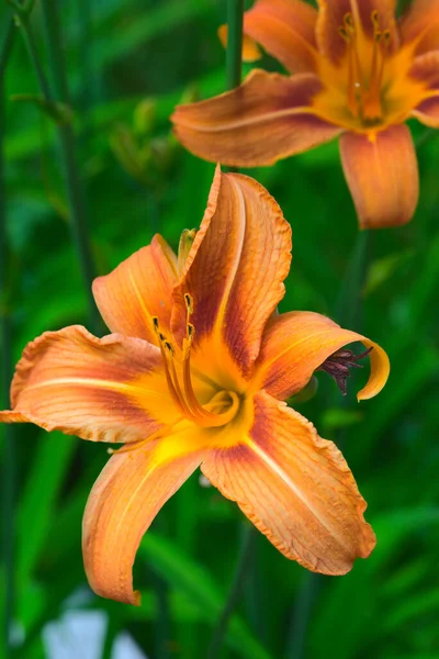
[[[1,348],[1,409],[9,407],[9,386],[12,377],[12,326],[8,295],[9,250],[7,239],[7,209],[4,198],[4,72],[9,62],[15,34],[12,20],[5,30],[5,37],[0,52],[0,348]],[[4,565],[4,615],[2,629],[2,656],[11,656],[10,635],[14,614],[14,503],[15,503],[15,442],[13,426],[7,425],[3,450],[3,565]]]

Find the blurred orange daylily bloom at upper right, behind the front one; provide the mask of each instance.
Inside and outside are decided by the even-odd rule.
[[[180,105],[181,143],[239,167],[272,165],[340,136],[360,226],[408,222],[418,200],[415,116],[439,127],[439,2],[257,0],[244,16],[244,58],[257,44],[292,76],[254,70],[236,90]],[[219,32],[226,40],[226,29]]]

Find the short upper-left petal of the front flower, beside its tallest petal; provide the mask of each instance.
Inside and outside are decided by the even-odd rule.
[[[169,327],[177,257],[161,236],[155,236],[110,275],[93,281],[93,295],[111,332],[156,344],[153,316]]]

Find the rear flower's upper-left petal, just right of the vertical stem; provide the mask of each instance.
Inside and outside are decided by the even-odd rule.
[[[247,62],[258,59],[256,42],[292,74],[314,71],[316,20],[316,10],[302,0],[257,0],[244,14],[243,57]],[[218,33],[226,45],[227,25]]]

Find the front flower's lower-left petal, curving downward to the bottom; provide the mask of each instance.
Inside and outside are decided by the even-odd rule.
[[[191,454],[156,465],[154,451],[144,446],[109,460],[90,492],[82,523],[85,568],[97,594],[140,604],[132,574],[140,539],[201,459]]]

